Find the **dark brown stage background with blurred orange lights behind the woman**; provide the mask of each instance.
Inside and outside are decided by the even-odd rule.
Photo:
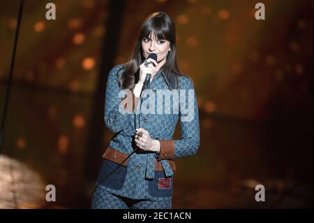
[[[45,20],[49,2],[57,20]],[[113,136],[103,122],[107,73],[128,60],[157,10],[176,23],[179,67],[200,110],[200,148],[177,160],[173,208],[313,208],[313,1],[260,1],[266,20],[255,20],[257,2],[27,0],[0,208],[89,207]],[[1,103],[18,7],[0,2]],[[255,201],[258,184],[264,202]],[[45,201],[46,185],[57,201]]]

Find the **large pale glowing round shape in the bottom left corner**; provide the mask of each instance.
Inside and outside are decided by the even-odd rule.
[[[0,156],[0,208],[38,209],[47,207],[45,180],[36,173],[36,166],[26,156],[23,161]],[[40,157],[43,159],[43,157]],[[44,159],[47,159],[46,157]],[[47,162],[47,161],[46,161]],[[37,164],[37,163],[36,163]],[[38,167],[38,166],[37,166]],[[40,172],[40,171],[38,171]],[[3,218],[3,215],[1,215]],[[1,220],[1,222],[6,222]]]

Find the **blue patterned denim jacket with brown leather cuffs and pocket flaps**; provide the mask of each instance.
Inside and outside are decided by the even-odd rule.
[[[107,78],[105,126],[115,135],[103,154],[105,159],[98,183],[114,194],[131,199],[171,199],[173,160],[194,155],[200,145],[193,81],[186,76],[166,75],[165,70],[158,71],[144,91],[147,94],[142,94],[140,99],[131,90],[121,89],[123,69],[122,64],[114,66]],[[163,99],[161,104],[160,96]],[[173,140],[178,120],[181,138]],[[123,161],[122,158],[137,148],[134,136],[135,128],[139,127],[149,131],[151,138],[160,142],[160,153],[141,152],[139,149],[124,166],[111,173],[117,163]]]

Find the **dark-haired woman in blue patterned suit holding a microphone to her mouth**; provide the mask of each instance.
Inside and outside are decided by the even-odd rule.
[[[115,135],[91,208],[171,208],[174,159],[200,146],[193,80],[177,65],[174,22],[165,13],[144,20],[127,64],[107,79],[105,125]],[[181,138],[173,140],[177,122]]]

